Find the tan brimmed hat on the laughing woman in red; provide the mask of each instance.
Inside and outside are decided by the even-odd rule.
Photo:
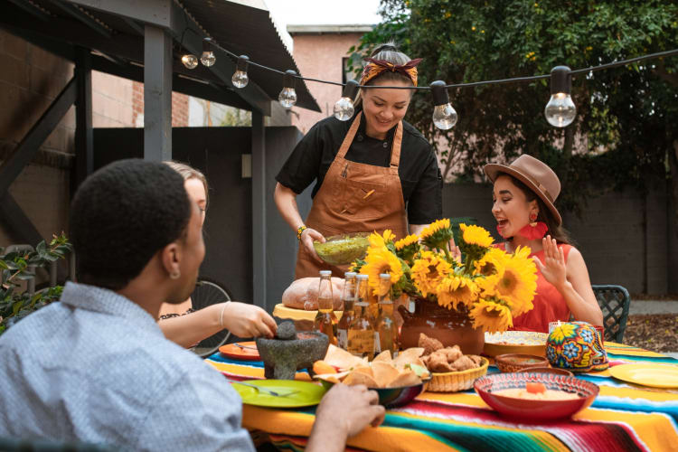
[[[521,155],[513,160],[511,165],[489,164],[485,165],[483,170],[493,183],[501,173],[513,175],[527,185],[532,192],[536,193],[549,208],[558,225],[562,224],[560,212],[553,205],[560,194],[560,180],[553,173],[553,170],[541,160],[537,160],[531,155]]]

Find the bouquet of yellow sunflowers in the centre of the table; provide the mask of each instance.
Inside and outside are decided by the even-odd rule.
[[[537,268],[530,249],[513,254],[492,246],[493,239],[480,226],[460,224],[457,245],[465,258],[454,258],[447,244],[453,237],[449,219],[438,220],[400,240],[390,230],[373,232],[364,259],[353,271],[369,276],[372,296],[378,297],[379,275],[391,274],[392,297],[406,294],[426,299],[449,310],[467,313],[476,329],[503,332],[513,317],[532,309]]]

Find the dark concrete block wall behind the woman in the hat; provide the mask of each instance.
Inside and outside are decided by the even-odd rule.
[[[443,215],[475,217],[495,240],[489,184],[446,184]],[[618,284],[631,293],[678,292],[678,235],[665,184],[649,193],[628,189],[591,198],[581,217],[561,212],[586,260],[592,284]]]

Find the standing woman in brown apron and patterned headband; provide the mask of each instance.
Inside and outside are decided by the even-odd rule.
[[[350,121],[325,118],[312,127],[289,156],[276,179],[275,201],[287,224],[297,231],[295,278],[317,277],[346,268],[318,258],[313,241],[363,231],[390,229],[398,239],[418,233],[442,213],[442,178],[426,138],[402,118],[412,90],[380,86],[417,86],[420,60],[383,44],[365,66],[360,99]],[[314,180],[313,206],[306,221],[297,194]],[[409,227],[408,227],[409,225]]]

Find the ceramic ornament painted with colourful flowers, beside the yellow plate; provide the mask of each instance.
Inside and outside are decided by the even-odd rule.
[[[609,367],[600,335],[586,322],[565,322],[553,328],[546,341],[551,366],[570,372],[603,371]]]

